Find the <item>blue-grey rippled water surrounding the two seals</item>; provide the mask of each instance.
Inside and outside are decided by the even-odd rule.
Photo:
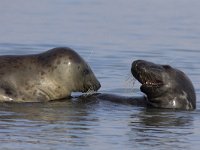
[[[3,104],[0,149],[199,149],[199,8],[198,0],[1,0],[1,55],[71,47],[101,82],[99,92],[124,96],[143,95],[132,61],[170,64],[192,80],[197,109],[78,99]]]

